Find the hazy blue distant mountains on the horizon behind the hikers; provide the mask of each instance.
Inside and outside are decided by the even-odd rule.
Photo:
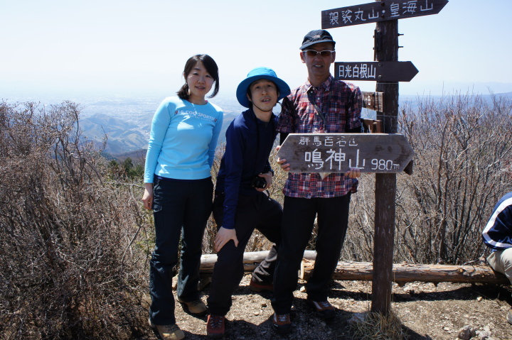
[[[498,97],[512,98],[512,92],[496,94]],[[482,95],[484,99],[491,100],[491,95]],[[418,96],[402,96],[400,104],[407,102],[415,105]],[[442,96],[430,96],[439,100]],[[134,160],[141,155],[146,155],[149,131],[151,130],[151,119],[161,99],[103,99],[101,101],[83,104],[82,119],[80,127],[87,138],[95,141],[98,146],[102,145],[102,138],[107,135],[107,147],[105,153],[124,160],[130,157]],[[223,128],[220,133],[220,141],[225,140],[225,130],[228,125],[245,108],[240,106],[236,99],[216,100],[215,104],[224,110]],[[276,108],[275,111],[278,111]],[[363,116],[374,118],[375,111],[365,110]]]

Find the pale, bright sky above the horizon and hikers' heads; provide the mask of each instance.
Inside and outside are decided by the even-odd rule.
[[[307,77],[299,46],[321,28],[321,11],[368,2],[0,0],[0,99],[172,95],[198,53],[218,63],[219,97],[234,97],[260,66],[294,88]],[[438,14],[400,19],[398,58],[420,71],[400,82],[400,95],[512,92],[511,13],[511,0],[450,0]],[[373,61],[374,29],[331,28],[336,61]],[[375,82],[355,83],[375,90]]]

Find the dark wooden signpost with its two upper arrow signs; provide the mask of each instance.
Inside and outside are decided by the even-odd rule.
[[[398,131],[398,82],[408,82],[417,73],[412,62],[407,62],[407,71],[403,71],[404,67],[402,65],[405,64],[398,62],[398,19],[437,14],[447,3],[448,0],[376,0],[369,4],[347,6],[321,12],[321,27],[324,29],[376,23],[374,50],[375,62],[378,62],[377,66],[373,62],[336,62],[335,77],[338,79],[375,80],[377,82],[375,93],[383,94],[382,102],[385,102],[385,106],[378,108],[376,118],[383,121],[383,132],[385,133],[391,134]],[[368,77],[372,74],[371,72],[368,73],[368,65],[370,65],[370,68],[373,65],[375,77]],[[395,65],[400,66],[396,66],[397,69],[393,71],[377,73],[378,67],[383,70],[388,67],[389,70],[390,67],[395,67]],[[354,73],[354,67],[357,68],[356,73]],[[361,73],[363,67],[364,70]],[[407,73],[407,77],[402,75],[402,72]],[[378,77],[379,75],[381,77]],[[372,134],[371,136],[377,135]],[[376,173],[371,312],[380,314],[389,314],[391,308],[395,196],[396,174],[394,172]]]

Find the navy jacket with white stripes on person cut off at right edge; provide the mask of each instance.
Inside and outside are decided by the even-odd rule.
[[[482,238],[493,251],[512,248],[512,192],[501,197],[494,207]]]

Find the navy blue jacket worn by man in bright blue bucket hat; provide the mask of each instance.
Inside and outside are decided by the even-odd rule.
[[[223,227],[235,228],[238,195],[258,194],[252,180],[260,173],[272,171],[269,155],[277,136],[277,117],[265,123],[252,109],[233,119],[226,131],[226,147],[217,175],[215,192],[224,192]]]

